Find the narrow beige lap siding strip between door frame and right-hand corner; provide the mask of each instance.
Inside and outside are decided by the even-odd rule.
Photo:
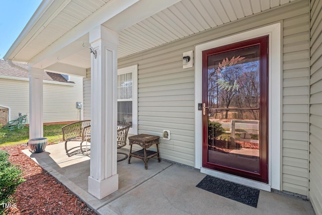
[[[283,20],[283,190],[307,195],[309,15]]]

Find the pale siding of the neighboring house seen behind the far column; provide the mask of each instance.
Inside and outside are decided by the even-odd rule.
[[[76,85],[43,84],[44,123],[79,120],[76,102],[83,102],[83,78],[70,77],[70,81]],[[0,79],[0,92],[0,105],[11,108],[11,120],[18,113],[29,115],[28,81]]]

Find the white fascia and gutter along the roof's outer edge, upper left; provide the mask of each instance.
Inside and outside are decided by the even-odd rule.
[[[4,59],[13,59],[27,46],[71,0],[43,0],[28,21],[16,41],[7,51]],[[14,60],[15,61],[15,60]],[[25,61],[15,61],[25,62]]]

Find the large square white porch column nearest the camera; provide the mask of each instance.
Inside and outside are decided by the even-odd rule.
[[[91,64],[91,171],[89,193],[102,199],[118,190],[117,44],[118,33],[104,26],[90,32],[97,51]]]

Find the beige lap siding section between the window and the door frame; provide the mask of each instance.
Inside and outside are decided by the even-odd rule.
[[[160,138],[161,157],[189,166],[195,160],[194,68],[182,68],[182,53],[193,49],[174,47],[118,62],[119,68],[138,64],[138,133],[162,136],[163,130],[170,130],[170,140]]]

